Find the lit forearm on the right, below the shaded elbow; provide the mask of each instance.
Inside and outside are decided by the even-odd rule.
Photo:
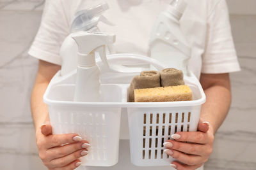
[[[204,90],[206,102],[202,105],[200,118],[210,123],[215,133],[225,120],[231,103],[231,92],[229,89],[214,85]]]

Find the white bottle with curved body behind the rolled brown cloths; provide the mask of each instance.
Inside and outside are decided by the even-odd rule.
[[[159,60],[165,67],[181,69],[188,75],[191,48],[179,22],[186,6],[184,0],[173,0],[167,10],[159,14],[150,34],[149,45],[150,57]]]

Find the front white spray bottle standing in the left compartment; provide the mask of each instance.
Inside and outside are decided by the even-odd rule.
[[[106,45],[115,42],[115,35],[100,32],[76,32],[71,35],[78,46],[77,75],[74,101],[99,102],[100,101],[100,71],[95,64],[95,53],[105,66]]]

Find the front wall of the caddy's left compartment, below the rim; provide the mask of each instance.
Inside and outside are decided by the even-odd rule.
[[[90,162],[90,165],[97,166],[99,162],[106,162],[104,163],[106,166],[113,165],[117,161],[116,157],[118,155],[115,154],[113,157],[109,157],[109,155],[118,152],[116,146],[118,146],[119,140],[116,138],[111,143],[109,142],[109,136],[116,128],[119,129],[118,125],[120,124],[118,122],[121,109],[93,111],[84,109],[70,111],[64,107],[61,110],[52,111],[54,114],[51,114],[50,118],[54,127],[54,134],[76,133],[92,145],[88,148],[88,155],[81,158],[83,164]],[[115,119],[118,121],[109,121]],[[115,129],[108,131],[109,127],[115,127]],[[119,134],[119,130],[117,132],[116,134]],[[113,151],[115,147],[116,149]]]

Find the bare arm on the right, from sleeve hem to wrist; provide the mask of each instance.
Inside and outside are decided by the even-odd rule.
[[[231,103],[230,78],[228,73],[204,74],[200,76],[206,102],[202,105],[200,118],[210,123],[215,133],[227,117]]]

